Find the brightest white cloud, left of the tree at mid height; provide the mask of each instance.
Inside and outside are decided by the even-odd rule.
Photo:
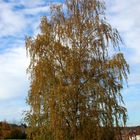
[[[10,48],[0,54],[0,100],[25,94],[27,65],[23,47]]]

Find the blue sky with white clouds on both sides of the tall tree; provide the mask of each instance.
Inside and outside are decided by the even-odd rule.
[[[119,30],[130,64],[129,86],[122,91],[128,125],[140,125],[140,1],[106,0],[106,6],[107,19]],[[46,0],[0,0],[0,120],[20,121],[28,108],[25,37],[39,32],[40,17],[48,11]]]

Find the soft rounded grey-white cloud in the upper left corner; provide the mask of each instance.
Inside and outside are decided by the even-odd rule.
[[[26,20],[20,13],[12,11],[12,5],[0,2],[0,37],[20,33],[26,27]]]

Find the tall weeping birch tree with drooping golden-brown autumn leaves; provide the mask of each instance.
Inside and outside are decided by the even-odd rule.
[[[125,125],[121,89],[129,67],[104,11],[101,0],[66,0],[26,39],[29,138],[113,140],[114,126]]]

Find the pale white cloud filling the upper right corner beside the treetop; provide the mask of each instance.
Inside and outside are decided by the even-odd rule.
[[[115,0],[107,3],[109,21],[122,34],[127,50],[131,50],[129,62],[140,64],[140,1],[139,0]]]

